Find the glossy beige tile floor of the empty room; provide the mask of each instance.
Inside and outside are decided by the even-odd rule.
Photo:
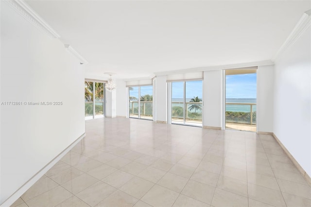
[[[310,207],[311,187],[271,136],[104,118],[13,206]]]

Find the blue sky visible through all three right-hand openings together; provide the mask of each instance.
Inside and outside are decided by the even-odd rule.
[[[172,83],[172,98],[183,98],[184,83]],[[226,98],[238,99],[254,99],[257,94],[257,74],[239,74],[226,75]],[[187,81],[186,82],[186,98],[191,99],[198,96],[202,98],[202,81]],[[152,95],[152,86],[140,86],[140,96],[145,94]],[[130,96],[138,97],[138,87],[133,87],[130,90]]]

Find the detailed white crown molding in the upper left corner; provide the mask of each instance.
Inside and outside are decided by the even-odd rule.
[[[52,27],[43,20],[24,0],[4,0],[18,14],[32,23],[37,29],[51,38],[59,38],[60,36],[52,29]]]

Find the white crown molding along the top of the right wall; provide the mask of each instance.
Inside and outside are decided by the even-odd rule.
[[[303,13],[302,17],[299,19],[298,23],[294,27],[291,34],[287,37],[283,45],[276,52],[276,55],[272,58],[272,60],[276,60],[276,58],[283,53],[288,47],[290,47],[294,42],[300,37],[303,32],[305,32],[308,27],[311,25],[311,10],[308,10]]]

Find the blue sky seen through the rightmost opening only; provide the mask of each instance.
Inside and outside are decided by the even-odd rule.
[[[256,99],[257,74],[226,75],[225,91],[227,99]]]

